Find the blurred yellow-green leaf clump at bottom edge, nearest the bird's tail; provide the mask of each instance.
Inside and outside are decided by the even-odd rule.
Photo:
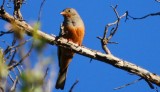
[[[23,85],[22,92],[43,92],[43,73],[36,70],[26,70],[20,76]]]

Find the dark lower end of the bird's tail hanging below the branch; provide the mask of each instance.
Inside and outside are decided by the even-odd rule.
[[[61,90],[64,89],[66,74],[67,74],[67,68],[63,72],[61,72],[61,70],[59,71],[58,79],[56,82],[56,89],[61,89]]]

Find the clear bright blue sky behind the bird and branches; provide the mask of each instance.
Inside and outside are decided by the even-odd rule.
[[[37,20],[41,1],[27,0],[27,4],[23,5],[22,14],[27,22]],[[155,0],[46,0],[42,9],[41,30],[48,34],[58,35],[60,23],[63,21],[60,12],[67,7],[75,8],[86,26],[83,45],[103,52],[100,40],[96,37],[103,35],[107,23],[116,20],[115,13],[110,7],[116,4],[118,4],[117,11],[120,15],[129,11],[135,17],[158,12],[160,7],[160,3]],[[12,9],[7,10],[12,11]],[[129,19],[127,22],[124,22],[123,19],[118,32],[112,39],[119,44],[108,45],[110,51],[121,59],[160,75],[159,23],[159,16],[144,20]],[[46,50],[46,56],[54,57],[55,75],[57,76],[56,46],[47,46]],[[54,55],[52,55],[53,53]],[[72,61],[68,69],[64,91],[54,89],[54,92],[67,92],[76,79],[79,80],[79,83],[74,88],[74,92],[155,92],[143,80],[115,91],[113,88],[127,84],[139,77],[97,60],[92,60],[90,63],[90,58],[80,55],[75,55]],[[54,80],[56,80],[56,76]],[[158,89],[160,90],[160,88]]]

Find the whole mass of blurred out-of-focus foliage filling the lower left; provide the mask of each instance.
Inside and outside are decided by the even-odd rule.
[[[24,39],[24,30],[23,29],[17,29],[16,26],[12,26],[14,32],[14,36],[17,37],[20,41],[25,40]],[[15,51],[15,56],[12,61],[11,59],[7,59],[7,55],[3,55],[3,51],[0,48],[0,81],[2,84],[0,84],[0,87],[2,89],[10,90],[13,89],[12,92],[46,92],[49,90],[49,87],[46,85],[49,85],[50,80],[52,80],[51,76],[48,76],[47,74],[47,69],[48,66],[51,65],[51,61],[53,61],[52,56],[51,57],[44,57],[43,56],[43,49],[46,45],[46,41],[42,39],[41,37],[38,37],[37,35],[37,30],[40,28],[40,23],[35,23],[34,25],[34,33],[33,33],[33,49],[35,49],[37,52],[37,55],[35,56],[38,58],[38,61],[35,62],[35,65],[33,65],[34,68],[31,68],[28,61],[26,58],[24,58],[25,55],[22,55],[24,53],[24,45],[14,45],[14,46],[19,46],[16,48],[11,48],[11,51]],[[18,42],[18,41],[17,41]],[[19,43],[18,43],[19,44]],[[13,46],[13,47],[14,47]],[[20,48],[22,47],[22,48]],[[15,50],[16,49],[16,50]],[[32,49],[31,49],[32,51]],[[27,53],[26,56],[29,57],[32,55],[31,51],[29,50],[29,54]],[[12,52],[12,53],[13,53]],[[39,53],[41,52],[41,53]],[[11,54],[14,55],[14,54]],[[20,57],[16,57],[16,55]],[[12,58],[12,56],[10,56]],[[20,59],[20,60],[19,60]],[[23,60],[24,59],[24,60]],[[18,64],[17,66],[14,66],[13,69],[8,70],[10,66],[13,66],[15,63],[18,63],[19,61],[22,62]],[[26,61],[25,61],[26,60]],[[9,62],[12,62],[11,65],[7,65]],[[26,63],[27,62],[27,63]],[[16,64],[15,64],[16,65]],[[20,67],[22,66],[22,67]],[[24,68],[24,67],[25,68]],[[52,72],[54,73],[54,72]],[[9,76],[8,76],[9,75]],[[45,77],[50,78],[50,80],[45,80]],[[15,77],[17,78],[18,81],[16,81]],[[7,83],[8,80],[11,80],[13,83],[9,84]],[[11,87],[8,87],[8,84]],[[19,85],[19,86],[17,86]],[[8,87],[8,88],[7,88]],[[48,92],[48,91],[47,91]]]

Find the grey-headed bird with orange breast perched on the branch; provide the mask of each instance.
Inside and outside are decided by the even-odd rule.
[[[63,16],[64,21],[61,25],[59,37],[82,46],[85,26],[78,12],[74,8],[66,8],[60,14]],[[58,47],[58,61],[60,69],[55,85],[56,89],[64,89],[67,69],[74,54],[75,53],[72,50]]]

